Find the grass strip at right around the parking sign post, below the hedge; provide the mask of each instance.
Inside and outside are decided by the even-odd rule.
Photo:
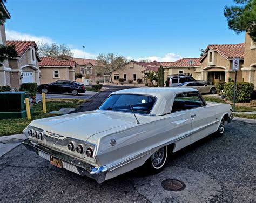
[[[218,98],[218,97],[207,97],[203,96],[206,101],[213,101],[213,102],[218,102],[218,103],[223,103],[227,104],[223,99]],[[231,104],[233,108],[233,104]],[[240,112],[249,112],[249,111],[256,111],[255,107],[247,107],[247,106],[239,106],[235,105],[235,111],[240,111]],[[256,119],[256,114],[237,114],[233,113],[234,116],[236,117],[241,117],[241,118],[251,118],[251,119]]]

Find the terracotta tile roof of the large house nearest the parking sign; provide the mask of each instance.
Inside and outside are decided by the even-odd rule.
[[[211,49],[213,51],[217,51],[225,57],[226,59],[229,58],[244,58],[244,52],[245,52],[245,43],[240,44],[210,44],[205,49],[205,54],[203,57],[201,57],[201,60],[207,55],[207,50]]]

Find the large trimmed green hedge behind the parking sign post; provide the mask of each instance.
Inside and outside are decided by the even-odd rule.
[[[235,101],[250,101],[253,93],[253,83],[238,82],[235,93]],[[225,83],[223,87],[227,100],[233,100],[234,82]]]

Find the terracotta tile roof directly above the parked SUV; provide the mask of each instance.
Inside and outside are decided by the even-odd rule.
[[[181,58],[176,62],[162,62],[163,67],[190,67],[190,66],[200,66],[201,58]]]

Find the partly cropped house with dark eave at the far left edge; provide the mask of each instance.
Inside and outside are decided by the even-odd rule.
[[[11,15],[8,12],[8,10],[6,9],[4,3],[1,1],[0,2],[0,13],[2,14],[2,17],[5,20],[2,20],[0,22],[0,45],[6,45],[6,35],[5,35],[5,22],[6,19],[10,19]],[[5,86],[5,85],[11,85],[10,82],[10,67],[9,67],[9,63],[8,60],[5,60],[4,62],[0,63],[0,86]]]

